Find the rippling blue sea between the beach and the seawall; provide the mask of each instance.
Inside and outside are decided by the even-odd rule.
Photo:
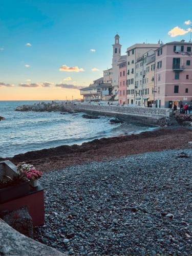
[[[15,111],[19,105],[38,102],[42,101],[0,101],[0,116],[5,117],[0,121],[0,157],[155,129],[133,122],[110,124],[111,117],[106,116],[85,119],[83,113]]]

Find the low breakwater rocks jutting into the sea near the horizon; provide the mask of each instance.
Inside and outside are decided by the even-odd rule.
[[[69,108],[66,108],[65,103],[35,103],[33,105],[17,106],[15,111],[35,111],[35,112],[69,112]]]

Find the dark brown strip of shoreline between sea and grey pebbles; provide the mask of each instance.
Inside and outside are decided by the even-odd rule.
[[[150,132],[95,139],[81,145],[62,145],[44,150],[30,151],[14,157],[0,158],[14,164],[34,164],[42,172],[67,166],[105,161],[145,152],[190,148],[192,131],[184,127],[164,127]]]

